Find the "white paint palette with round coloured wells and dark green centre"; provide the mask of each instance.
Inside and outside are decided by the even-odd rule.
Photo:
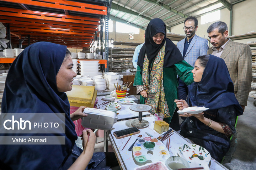
[[[133,146],[133,157],[138,163],[163,161],[170,157],[164,143],[153,137],[140,138]]]

